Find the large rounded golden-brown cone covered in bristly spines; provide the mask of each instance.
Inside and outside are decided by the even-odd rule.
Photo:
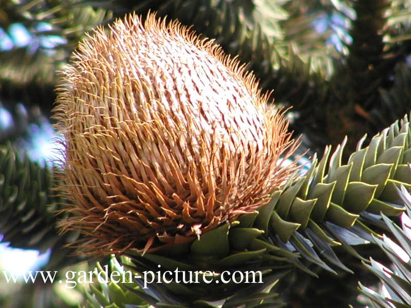
[[[155,14],[80,43],[58,87],[64,186],[82,251],[153,252],[258,210],[295,170],[284,112],[212,40]]]

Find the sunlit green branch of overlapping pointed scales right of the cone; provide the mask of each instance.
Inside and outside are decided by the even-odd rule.
[[[328,271],[332,266],[349,271],[332,247],[342,246],[362,258],[353,246],[375,242],[375,226],[387,228],[380,213],[395,216],[403,211],[397,187],[411,189],[410,128],[405,116],[367,147],[362,139],[346,164],[346,140],[332,155],[326,147],[320,162],[314,157],[304,177],[287,183],[261,208],[264,215],[257,216],[255,226],[265,231],[262,237]],[[269,218],[267,208],[273,211]]]

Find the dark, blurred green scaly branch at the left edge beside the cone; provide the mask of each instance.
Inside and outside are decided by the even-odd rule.
[[[53,191],[56,175],[50,167],[28,158],[7,144],[0,147],[0,235],[3,242],[13,247],[39,249],[52,248],[48,266],[63,266],[80,257],[67,258],[63,246],[78,238],[77,233],[60,236],[55,228],[60,197]]]

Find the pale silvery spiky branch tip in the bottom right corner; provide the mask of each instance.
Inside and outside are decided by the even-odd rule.
[[[383,285],[381,292],[377,292],[359,283],[360,292],[377,308],[411,307],[411,195],[402,186],[400,196],[406,206],[406,213],[401,216],[402,226],[399,227],[383,215],[392,236],[384,236],[383,239],[375,238],[382,251],[391,260],[391,268],[373,259],[370,259],[369,264],[363,262]]]

